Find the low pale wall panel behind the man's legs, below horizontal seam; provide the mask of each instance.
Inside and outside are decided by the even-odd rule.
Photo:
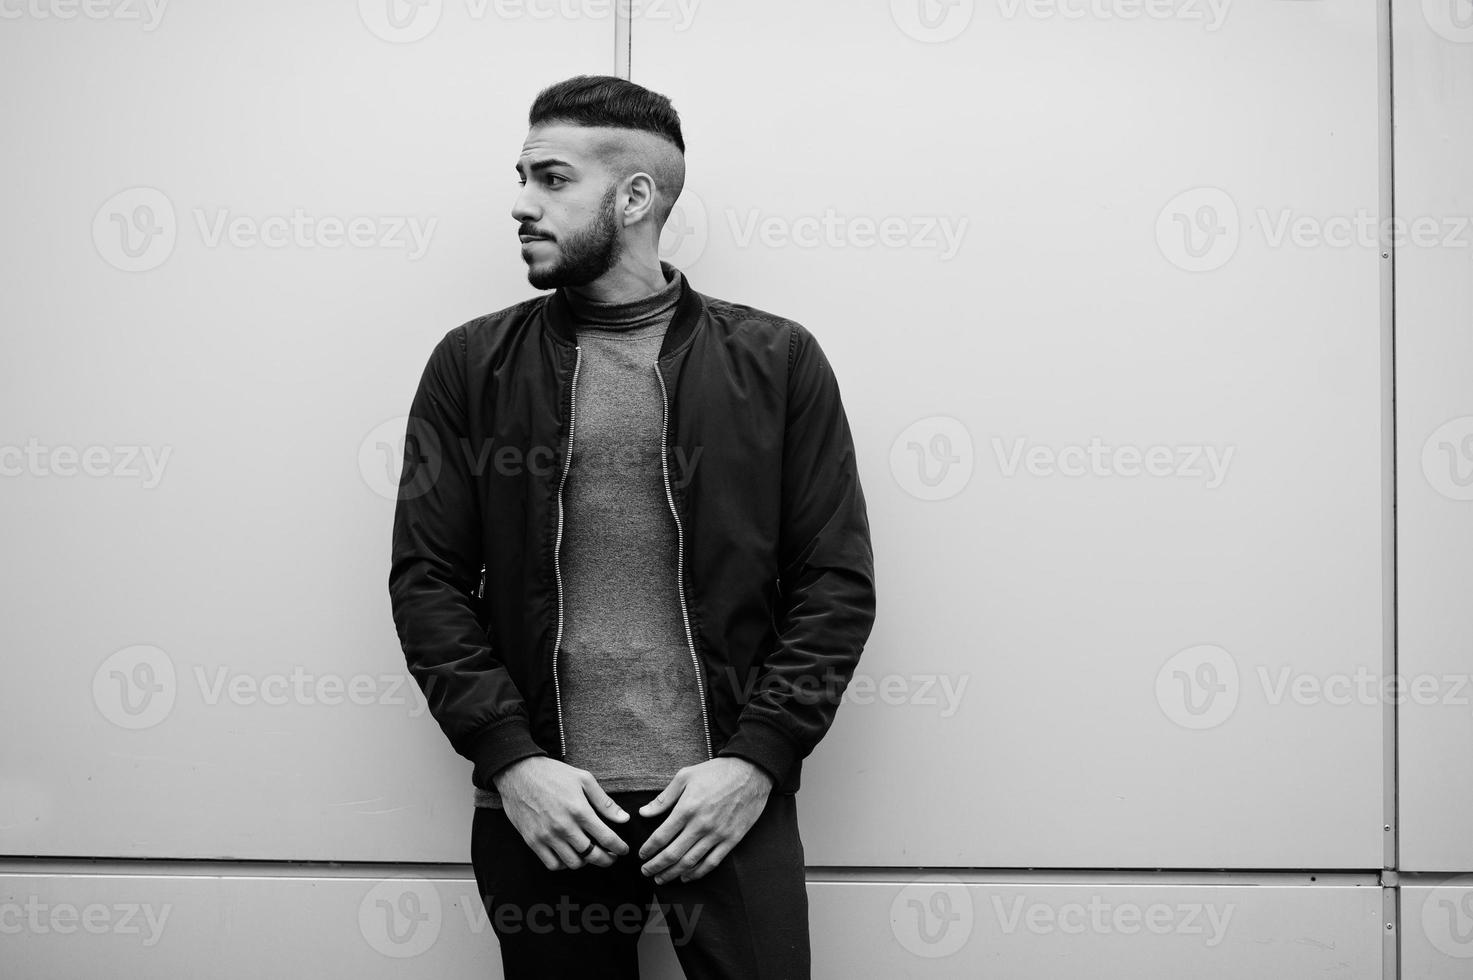
[[[1365,884],[810,881],[813,976],[1379,980],[1382,890]],[[115,980],[498,977],[476,883],[379,877],[0,874],[6,976]],[[574,915],[577,912],[573,912]],[[90,924],[90,925],[84,925]],[[654,920],[644,976],[679,977]],[[1452,974],[1429,974],[1452,976]]]

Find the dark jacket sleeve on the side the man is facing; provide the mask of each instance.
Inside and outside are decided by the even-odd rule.
[[[491,788],[501,768],[546,755],[477,619],[482,516],[467,454],[465,327],[430,354],[409,407],[393,508],[389,598],[409,673],[451,746]]]

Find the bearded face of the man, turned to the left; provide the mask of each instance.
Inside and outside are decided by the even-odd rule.
[[[619,183],[591,152],[594,136],[589,127],[545,124],[521,146],[511,217],[536,289],[586,286],[619,261]]]

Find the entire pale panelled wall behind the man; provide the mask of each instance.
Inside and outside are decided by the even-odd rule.
[[[816,333],[860,454],[879,615],[800,796],[818,976],[1370,979],[1398,946],[1460,976],[1467,706],[1354,685],[1473,671],[1473,233],[1396,249],[1395,432],[1391,258],[1336,234],[1386,212],[1392,38],[1396,214],[1469,214],[1467,3],[1128,9],[627,25],[685,122],[666,258]],[[47,912],[0,973],[485,976],[470,766],[389,617],[390,467],[435,340],[530,295],[526,111],[622,69],[616,21],[68,10],[0,4],[0,448],[29,452],[0,477],[0,912],[165,925]],[[1059,470],[1093,439],[1171,472]],[[1059,925],[1091,897],[1227,925]]]

